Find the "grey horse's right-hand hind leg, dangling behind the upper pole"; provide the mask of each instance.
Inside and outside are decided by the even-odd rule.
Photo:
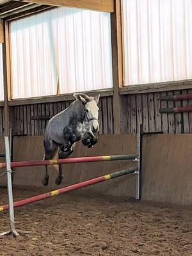
[[[70,147],[67,151],[66,151],[66,145],[61,145],[60,147],[60,152],[59,152],[59,159],[65,159],[68,156],[70,156],[70,154],[72,154],[72,152],[74,152],[74,147],[75,147],[75,143],[72,145],[72,147]],[[62,164],[58,164],[59,165],[59,173],[58,173],[58,177],[55,180],[57,185],[60,185],[63,179],[63,170],[62,170]]]

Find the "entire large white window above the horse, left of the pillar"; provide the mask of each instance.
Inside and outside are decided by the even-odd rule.
[[[109,13],[56,8],[10,31],[13,99],[113,86]]]

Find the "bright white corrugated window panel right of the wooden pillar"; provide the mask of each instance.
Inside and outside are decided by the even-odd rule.
[[[191,13],[191,0],[122,0],[124,85],[192,78]]]

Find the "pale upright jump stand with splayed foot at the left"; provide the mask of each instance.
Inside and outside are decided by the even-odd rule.
[[[12,190],[12,169],[10,164],[10,147],[9,138],[4,136],[4,147],[5,147],[5,159],[6,159],[6,177],[7,177],[7,190],[8,190],[8,204],[9,204],[9,218],[10,218],[10,230],[1,233],[0,236],[7,234],[13,234],[13,236],[19,236],[15,230],[15,218],[13,209],[13,190]]]

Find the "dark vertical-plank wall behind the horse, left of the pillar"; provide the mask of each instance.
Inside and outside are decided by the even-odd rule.
[[[13,135],[43,135],[48,120],[37,120],[34,117],[56,115],[71,102],[68,100],[10,107]],[[99,109],[100,134],[113,134],[112,97],[101,97]]]

